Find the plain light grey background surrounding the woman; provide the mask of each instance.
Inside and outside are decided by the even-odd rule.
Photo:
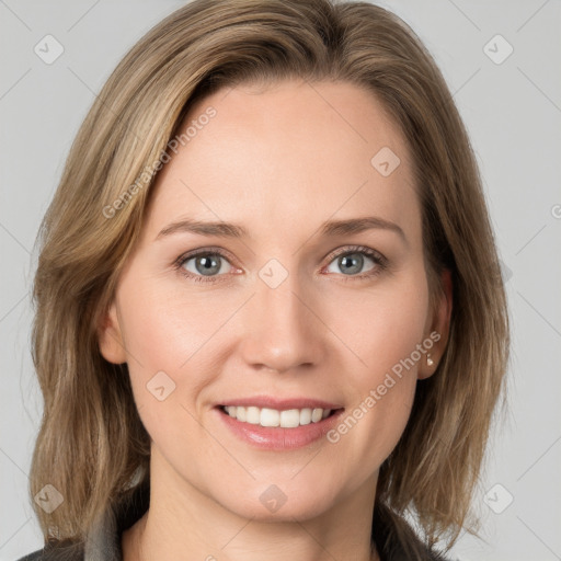
[[[510,410],[493,430],[474,497],[483,540],[462,535],[453,557],[561,559],[561,2],[378,3],[412,25],[455,93],[508,279]],[[125,51],[182,4],[0,0],[0,561],[42,547],[27,497],[43,408],[30,355],[37,227],[96,92]],[[34,53],[47,34],[65,49],[51,65]],[[489,43],[497,34],[514,48],[502,64],[488,56],[506,54],[502,39]]]

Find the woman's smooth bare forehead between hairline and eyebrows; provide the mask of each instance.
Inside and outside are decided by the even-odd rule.
[[[354,84],[224,89],[192,106],[180,134],[152,186],[151,233],[181,216],[249,230],[369,214],[419,225],[409,147]]]

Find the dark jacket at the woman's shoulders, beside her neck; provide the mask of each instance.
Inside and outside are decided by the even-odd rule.
[[[149,488],[139,486],[134,492],[131,501],[116,515],[111,510],[105,512],[101,522],[88,535],[85,542],[46,546],[18,561],[123,561],[122,534],[146,513],[149,496]],[[387,511],[375,508],[373,519],[373,540],[378,548],[381,561],[447,561],[446,558],[423,546],[412,530],[407,542],[401,542],[386,514]],[[412,548],[420,549],[423,553],[408,552]]]

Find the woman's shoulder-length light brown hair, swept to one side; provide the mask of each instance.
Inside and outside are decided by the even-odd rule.
[[[415,513],[428,543],[445,536],[451,545],[468,524],[507,365],[508,318],[476,158],[439,70],[403,21],[366,2],[195,0],[113,71],[39,230],[33,359],[44,414],[30,491],[50,483],[64,496],[50,514],[32,501],[46,542],[82,540],[100,513],[149,480],[150,438],[127,366],[102,357],[96,330],[142,228],[157,175],[146,170],[196,100],[287,78],[367,89],[411,149],[431,294],[449,270],[454,306],[444,356],[417,383],[405,431],[380,468],[376,512],[404,540],[402,515]]]

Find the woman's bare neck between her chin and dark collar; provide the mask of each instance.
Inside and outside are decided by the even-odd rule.
[[[299,513],[287,508],[272,520],[263,518],[262,512],[248,515],[225,507],[181,478],[154,447],[150,468],[150,506],[123,533],[124,561],[379,559],[370,536],[376,490],[373,478],[327,511]]]

